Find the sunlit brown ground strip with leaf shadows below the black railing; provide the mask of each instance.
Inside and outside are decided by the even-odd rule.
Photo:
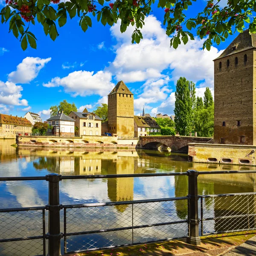
[[[228,233],[201,237],[201,245],[194,246],[184,241],[171,240],[160,243],[141,244],[136,246],[113,248],[108,250],[89,251],[85,253],[72,253],[67,256],[221,256],[243,244],[256,235],[256,231]]]

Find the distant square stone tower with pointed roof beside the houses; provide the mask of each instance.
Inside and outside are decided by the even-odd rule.
[[[123,81],[108,94],[108,132],[134,137],[134,95]]]

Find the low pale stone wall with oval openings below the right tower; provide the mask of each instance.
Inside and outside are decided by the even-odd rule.
[[[256,146],[189,143],[189,160],[256,166]]]

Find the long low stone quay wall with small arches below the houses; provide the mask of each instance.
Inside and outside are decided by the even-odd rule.
[[[82,136],[82,137],[55,137],[55,136],[17,136],[18,146],[43,147],[93,147],[93,148],[136,148],[139,140],[118,140],[110,136]]]

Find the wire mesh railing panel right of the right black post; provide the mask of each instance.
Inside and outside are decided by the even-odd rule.
[[[256,229],[256,194],[201,196],[201,234]]]

